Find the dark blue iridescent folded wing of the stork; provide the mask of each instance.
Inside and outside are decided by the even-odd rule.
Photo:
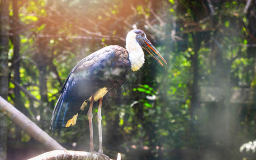
[[[65,127],[67,121],[78,113],[82,103],[106,85],[111,76],[114,55],[115,50],[104,47],[82,59],[72,69],[52,113],[52,132]]]

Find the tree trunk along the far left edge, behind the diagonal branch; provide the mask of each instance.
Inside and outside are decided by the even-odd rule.
[[[0,11],[0,95],[7,99],[8,95],[8,52],[9,52],[9,1],[1,1]],[[0,157],[6,159],[7,120],[0,114]]]

